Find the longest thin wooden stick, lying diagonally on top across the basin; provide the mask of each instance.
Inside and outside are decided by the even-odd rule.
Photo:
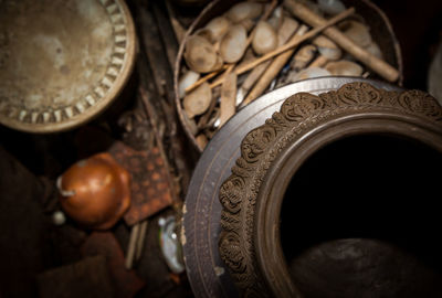
[[[347,9],[347,10],[343,11],[341,13],[339,13],[336,17],[334,17],[334,18],[329,19],[328,21],[326,21],[324,24],[312,29],[311,31],[308,31],[306,34],[299,36],[298,39],[293,40],[293,41],[284,44],[283,46],[277,47],[276,50],[274,50],[274,51],[272,51],[272,52],[270,52],[270,53],[267,53],[267,54],[265,54],[265,55],[252,61],[251,63],[249,63],[249,64],[246,64],[246,65],[244,65],[242,67],[238,67],[235,70],[235,74],[236,75],[243,74],[243,73],[256,67],[257,65],[260,65],[264,61],[267,61],[267,60],[270,60],[270,58],[272,58],[274,56],[277,56],[277,55],[284,53],[285,51],[288,51],[288,50],[295,47],[299,43],[302,43],[302,42],[315,36],[319,32],[324,31],[326,28],[328,28],[328,26],[330,26],[330,25],[344,20],[345,18],[347,18],[350,14],[352,14],[354,12],[355,12],[355,8],[350,8],[350,9]],[[221,79],[217,79],[215,82],[210,84],[210,87],[213,88],[213,87],[215,87],[215,86],[218,86],[220,84],[222,84],[222,81]]]

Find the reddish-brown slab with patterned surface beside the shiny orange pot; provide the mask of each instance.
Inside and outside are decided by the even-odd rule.
[[[134,225],[172,203],[165,161],[157,147],[137,151],[123,142],[115,142],[108,152],[129,170],[131,203],[124,220]]]

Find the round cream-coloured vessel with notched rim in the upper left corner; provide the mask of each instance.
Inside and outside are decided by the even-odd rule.
[[[135,60],[123,0],[0,2],[0,123],[53,132],[97,116]]]

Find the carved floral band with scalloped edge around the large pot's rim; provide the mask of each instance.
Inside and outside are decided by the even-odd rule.
[[[387,92],[358,82],[318,96],[295,94],[263,126],[244,137],[241,157],[219,193],[223,206],[220,255],[243,297],[271,296],[256,268],[253,226],[257,193],[275,158],[315,126],[349,113],[386,110],[442,125],[442,108],[430,95],[419,91]]]

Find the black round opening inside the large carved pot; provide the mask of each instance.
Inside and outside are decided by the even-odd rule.
[[[281,242],[306,297],[442,297],[442,153],[393,136],[335,141],[296,171]]]

